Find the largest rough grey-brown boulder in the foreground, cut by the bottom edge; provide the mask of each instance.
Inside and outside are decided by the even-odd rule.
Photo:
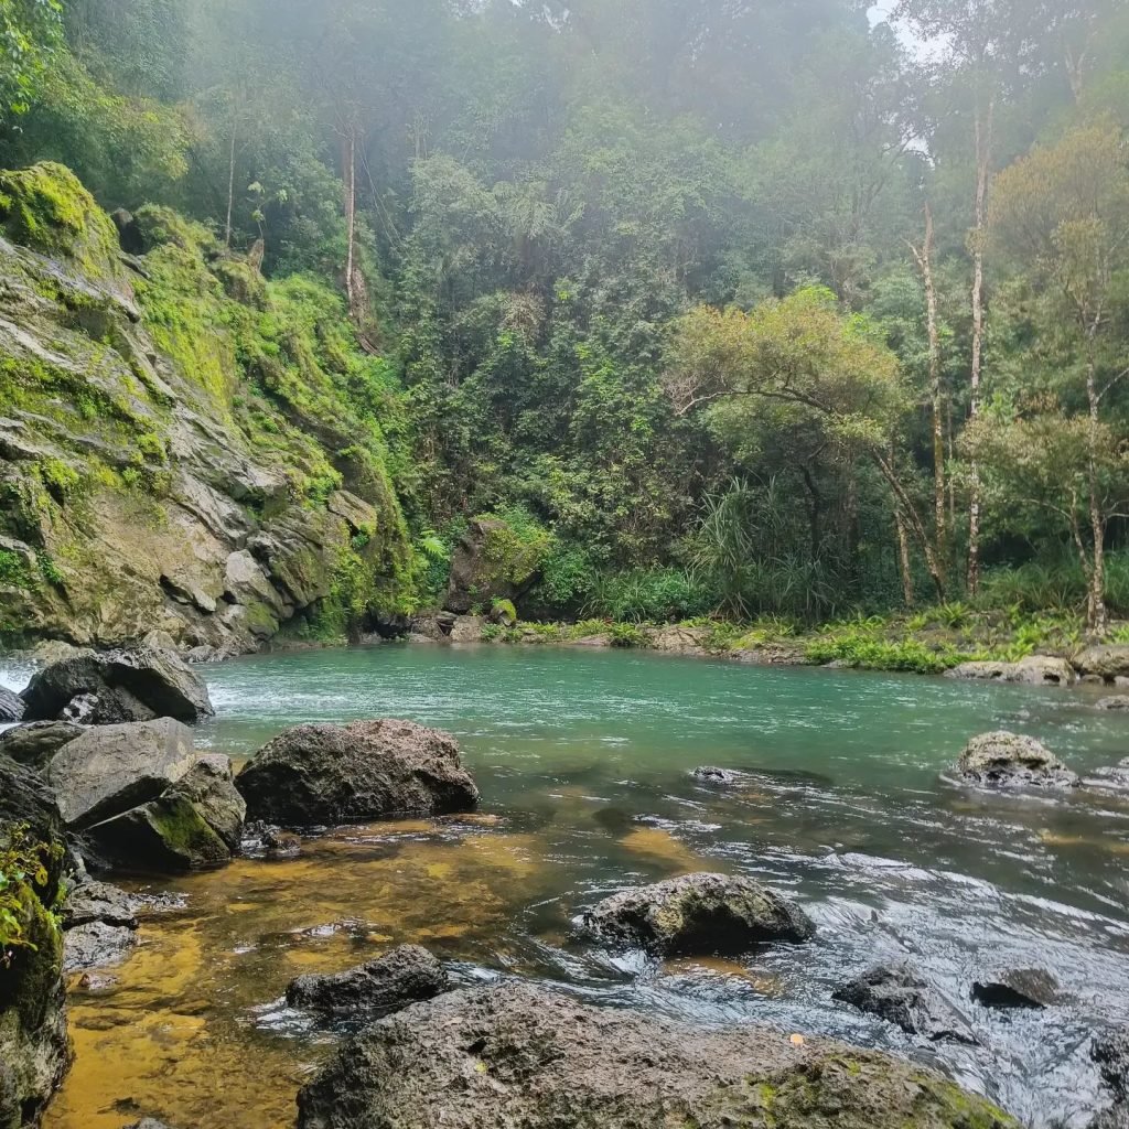
[[[298,1129],[1018,1129],[873,1051],[764,1027],[698,1030],[518,983],[448,992],[349,1040]]]

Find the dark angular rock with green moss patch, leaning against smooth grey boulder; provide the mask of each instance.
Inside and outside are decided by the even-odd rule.
[[[226,756],[201,756],[149,803],[89,829],[112,861],[177,873],[227,863],[239,847],[246,805]]]

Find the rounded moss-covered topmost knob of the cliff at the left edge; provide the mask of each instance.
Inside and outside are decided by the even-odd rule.
[[[117,273],[117,229],[64,165],[0,173],[0,222],[14,243],[76,260],[87,273]]]

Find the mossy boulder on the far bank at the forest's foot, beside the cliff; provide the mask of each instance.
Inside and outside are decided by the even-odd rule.
[[[540,553],[524,546],[507,522],[472,518],[450,560],[444,607],[465,615],[496,599],[517,603],[537,578]]]

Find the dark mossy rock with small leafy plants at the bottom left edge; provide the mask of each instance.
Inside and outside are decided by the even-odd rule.
[[[0,892],[19,929],[0,965],[0,1129],[18,1129],[38,1120],[71,1061],[62,933],[52,912],[63,835],[43,782],[30,769],[0,758],[0,854],[6,851],[15,852],[14,870],[27,875],[9,876]]]

